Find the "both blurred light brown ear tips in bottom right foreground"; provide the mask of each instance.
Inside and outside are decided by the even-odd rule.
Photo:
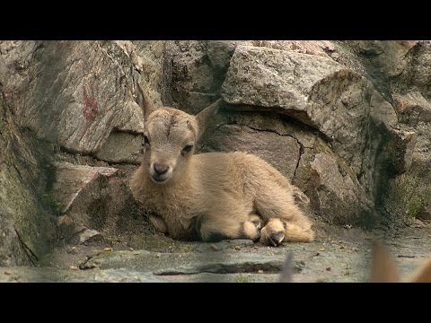
[[[388,249],[380,242],[374,242],[371,281],[374,283],[401,282],[395,260],[391,258]],[[409,283],[431,283],[431,259],[427,259],[422,266],[418,266],[417,270],[409,275],[406,281]]]

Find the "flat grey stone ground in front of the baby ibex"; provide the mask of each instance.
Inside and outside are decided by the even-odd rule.
[[[235,240],[213,244],[168,242],[163,236],[152,239],[161,244],[168,242],[165,249],[105,251],[103,248],[85,246],[68,247],[66,250],[63,247],[48,255],[51,263],[48,267],[0,267],[0,281],[278,282],[279,268],[289,252],[293,253],[294,283],[369,281],[372,257],[370,239],[383,239],[385,235],[377,231],[365,235],[353,228],[334,230],[333,226],[327,227],[327,230],[330,233],[320,233],[312,243],[286,243],[279,248],[240,240],[241,249],[237,250]],[[428,257],[429,233],[430,227],[426,225],[384,237],[404,279]],[[202,249],[205,246],[208,248]],[[79,269],[79,264],[84,263],[88,266]]]

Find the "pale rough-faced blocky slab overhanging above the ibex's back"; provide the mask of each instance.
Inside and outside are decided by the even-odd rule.
[[[286,113],[313,126],[306,114],[312,87],[343,68],[326,57],[238,46],[223,83],[223,98]]]

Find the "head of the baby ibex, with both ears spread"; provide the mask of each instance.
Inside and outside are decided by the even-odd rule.
[[[154,183],[164,184],[185,171],[207,119],[213,115],[220,100],[192,116],[180,109],[157,109],[139,84],[137,90],[136,102],[143,109],[145,118],[143,165],[148,168]]]

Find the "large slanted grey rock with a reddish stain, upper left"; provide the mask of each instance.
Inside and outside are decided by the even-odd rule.
[[[118,46],[54,41],[43,43],[35,56],[31,74],[39,76],[29,84],[22,112],[23,124],[40,138],[71,152],[95,153],[113,128],[142,131],[136,122],[142,111],[129,104],[128,57]]]

